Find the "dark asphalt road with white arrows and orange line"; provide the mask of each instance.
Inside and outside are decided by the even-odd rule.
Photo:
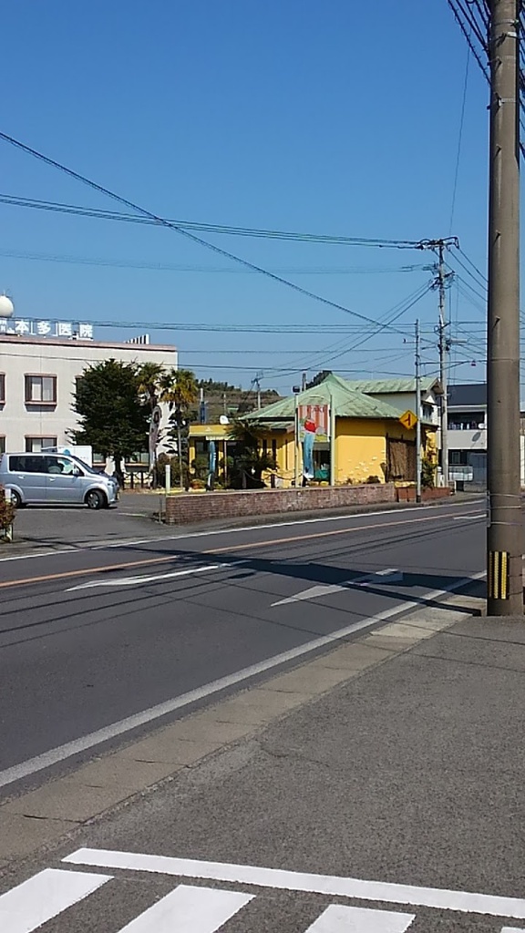
[[[270,669],[322,649],[319,638],[351,638],[432,605],[480,573],[483,508],[163,535],[0,562],[0,786],[180,715],[190,691],[206,703],[261,677],[252,665]]]

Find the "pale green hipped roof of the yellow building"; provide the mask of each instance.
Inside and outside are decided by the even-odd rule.
[[[324,382],[315,385],[297,396],[300,405],[329,404],[333,398],[333,407],[337,418],[383,418],[399,420],[399,411],[387,402],[365,395],[354,389],[340,376],[331,373]],[[281,398],[273,405],[267,405],[260,411],[251,411],[246,421],[252,423],[293,421],[295,415],[295,397]]]

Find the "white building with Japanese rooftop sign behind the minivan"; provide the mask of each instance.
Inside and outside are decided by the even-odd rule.
[[[76,380],[90,365],[111,358],[177,369],[177,349],[150,344],[146,336],[99,342],[92,339],[92,325],[0,319],[0,452],[71,444],[78,427]]]

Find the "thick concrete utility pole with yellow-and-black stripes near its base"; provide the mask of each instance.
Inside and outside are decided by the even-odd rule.
[[[519,0],[490,0],[488,612],[523,613],[519,476]]]

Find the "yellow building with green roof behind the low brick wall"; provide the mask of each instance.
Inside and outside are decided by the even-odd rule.
[[[367,481],[414,482],[416,480],[416,429],[400,421],[402,412],[380,398],[354,389],[346,380],[331,374],[324,382],[298,396],[283,398],[243,419],[260,438],[261,448],[276,462],[272,484],[291,485],[297,476],[302,482],[303,448],[296,443],[296,410],[307,406],[328,406],[333,416],[325,432],[316,434],[313,448],[314,481],[336,484]],[[326,414],[326,411],[325,411]],[[216,442],[218,461],[234,453],[229,440],[231,425],[192,425],[190,463],[206,454],[208,441]],[[436,425],[423,419],[421,453],[435,460]],[[331,436],[334,434],[333,460]],[[300,437],[300,435],[299,435]],[[221,474],[222,470],[218,470]]]

